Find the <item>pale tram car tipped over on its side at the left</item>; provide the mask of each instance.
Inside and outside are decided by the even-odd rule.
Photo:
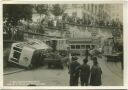
[[[51,47],[40,40],[13,43],[8,61],[31,69],[41,64],[45,54],[51,49]]]

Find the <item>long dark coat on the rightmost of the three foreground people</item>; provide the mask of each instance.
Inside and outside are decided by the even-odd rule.
[[[90,85],[100,86],[102,84],[101,74],[102,74],[101,68],[98,65],[93,65],[91,68]]]

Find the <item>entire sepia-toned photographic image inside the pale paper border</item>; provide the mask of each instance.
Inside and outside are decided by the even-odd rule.
[[[3,4],[4,86],[123,86],[123,4]]]

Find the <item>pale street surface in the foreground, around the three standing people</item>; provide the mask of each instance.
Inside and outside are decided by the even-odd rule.
[[[84,57],[79,57],[79,62],[82,63]],[[123,85],[123,71],[121,70],[120,62],[106,62],[105,58],[98,59],[102,68],[102,83],[103,86],[121,86]],[[92,61],[88,62],[92,65]],[[17,69],[5,70],[5,73],[15,71]],[[16,83],[15,83],[16,81]],[[31,81],[31,82],[30,82]],[[24,83],[23,83],[24,82]],[[24,70],[21,72],[4,75],[4,85],[44,85],[44,86],[68,86],[69,74],[68,69],[48,69],[47,66],[40,67],[34,70]],[[79,82],[80,85],[80,82]]]

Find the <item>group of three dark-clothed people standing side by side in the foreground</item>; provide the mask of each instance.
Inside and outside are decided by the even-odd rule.
[[[69,64],[70,86],[78,86],[79,78],[81,86],[100,86],[102,85],[102,70],[98,64],[97,57],[93,57],[93,66],[88,64],[88,57],[83,59],[83,64],[77,61],[78,57],[73,56]]]

